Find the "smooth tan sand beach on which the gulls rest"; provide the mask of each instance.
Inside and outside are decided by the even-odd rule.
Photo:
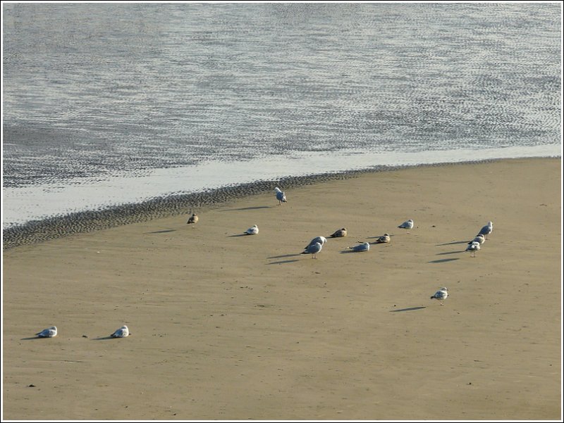
[[[561,419],[560,182],[410,168],[6,250],[4,419]]]

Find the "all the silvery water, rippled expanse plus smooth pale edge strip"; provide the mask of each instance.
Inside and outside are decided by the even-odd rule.
[[[562,156],[562,5],[2,4],[2,222]]]

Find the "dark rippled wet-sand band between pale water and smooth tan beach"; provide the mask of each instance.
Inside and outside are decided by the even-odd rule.
[[[46,217],[42,220],[32,220],[22,225],[14,225],[3,229],[3,248],[5,250],[22,245],[33,245],[44,241],[63,238],[72,234],[83,234],[97,230],[110,229],[122,225],[147,222],[162,217],[188,214],[190,210],[207,209],[220,206],[223,203],[238,198],[264,194],[274,190],[278,185],[281,189],[306,187],[340,179],[356,178],[360,175],[391,172],[403,169],[436,168],[450,165],[475,165],[495,163],[505,160],[544,160],[560,159],[560,156],[530,157],[530,158],[492,158],[483,160],[468,160],[454,163],[423,163],[418,165],[376,165],[372,168],[360,170],[346,170],[343,172],[319,173],[282,177],[279,179],[257,180],[245,184],[235,184],[217,189],[197,191],[194,193],[159,196],[141,203],[125,203],[109,206],[99,210],[84,210],[66,215]]]

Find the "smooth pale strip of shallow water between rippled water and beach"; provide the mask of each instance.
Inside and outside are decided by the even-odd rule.
[[[273,181],[274,192],[274,181],[290,176],[370,168],[385,170],[387,167],[498,158],[555,157],[561,156],[561,153],[560,146],[451,150],[401,155],[354,150],[343,151],[339,156],[299,153],[291,157],[254,158],[244,162],[208,161],[195,166],[121,172],[103,178],[68,179],[64,184],[5,188],[4,196],[10,198],[10,201],[4,203],[4,227],[22,225],[30,220],[41,220],[45,217],[78,213],[82,210],[103,210],[128,203],[142,203],[162,196],[197,193],[255,181]],[[281,187],[283,188],[283,185]],[[184,212],[187,213],[188,210]]]

